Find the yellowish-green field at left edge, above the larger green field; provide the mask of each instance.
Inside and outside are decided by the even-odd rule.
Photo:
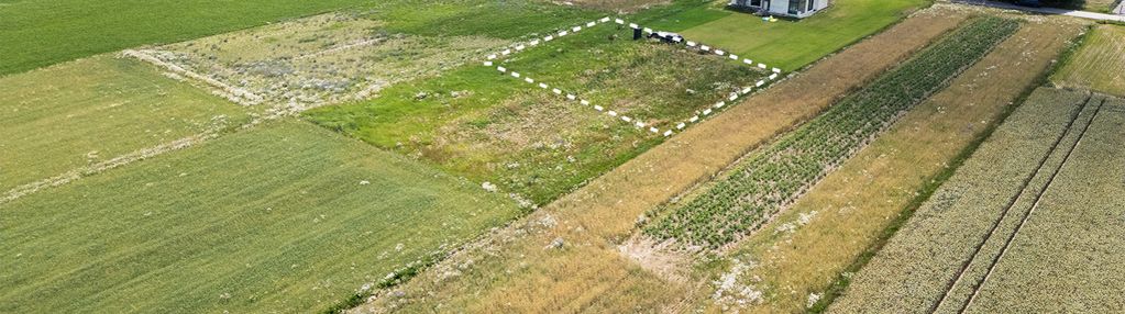
[[[0,77],[0,193],[249,119],[244,108],[111,55]]]

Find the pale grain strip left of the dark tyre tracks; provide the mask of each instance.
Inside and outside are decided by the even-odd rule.
[[[854,275],[829,312],[934,308],[1087,100],[1083,92],[1036,90]]]

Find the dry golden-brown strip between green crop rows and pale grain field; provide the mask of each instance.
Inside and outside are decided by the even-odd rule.
[[[1081,30],[1069,21],[1025,24],[748,239],[736,256],[758,266],[741,277],[762,278],[754,285],[765,292],[765,302],[749,312],[804,310],[810,294],[822,294],[927,183],[987,136]],[[813,219],[775,232],[798,225],[802,214]]]

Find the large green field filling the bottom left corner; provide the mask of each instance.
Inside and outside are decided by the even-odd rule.
[[[210,313],[322,311],[519,211],[475,183],[279,121],[0,212],[0,312]]]

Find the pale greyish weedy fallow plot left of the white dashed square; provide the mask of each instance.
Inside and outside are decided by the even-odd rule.
[[[359,13],[327,13],[142,52],[271,105],[314,108],[375,96],[504,45],[487,37],[390,34],[382,25]]]

